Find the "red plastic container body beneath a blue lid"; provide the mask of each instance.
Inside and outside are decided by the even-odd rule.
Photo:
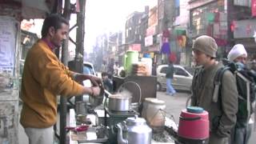
[[[182,110],[178,124],[178,137],[203,140],[209,138],[209,133],[209,118],[206,110],[202,110],[202,113]]]

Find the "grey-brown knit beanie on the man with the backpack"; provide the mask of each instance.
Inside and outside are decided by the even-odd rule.
[[[194,40],[192,50],[199,50],[203,54],[216,58],[218,46],[214,38],[207,35],[202,35]]]

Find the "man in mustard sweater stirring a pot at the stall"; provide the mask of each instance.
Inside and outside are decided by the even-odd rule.
[[[62,64],[53,50],[67,38],[69,23],[51,14],[42,26],[42,38],[29,50],[22,75],[22,112],[20,122],[30,144],[54,142],[53,126],[57,119],[57,95],[70,97],[82,94],[98,96],[99,78],[74,73]],[[90,79],[92,87],[78,82]],[[77,81],[77,82],[76,82]]]

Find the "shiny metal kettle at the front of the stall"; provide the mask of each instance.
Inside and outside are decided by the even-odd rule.
[[[144,118],[127,118],[126,121],[119,122],[118,144],[151,144],[152,129],[146,125]]]

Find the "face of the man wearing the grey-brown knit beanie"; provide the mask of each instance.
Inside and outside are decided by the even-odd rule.
[[[196,66],[205,66],[210,61],[210,57],[199,50],[194,50],[193,56]]]

